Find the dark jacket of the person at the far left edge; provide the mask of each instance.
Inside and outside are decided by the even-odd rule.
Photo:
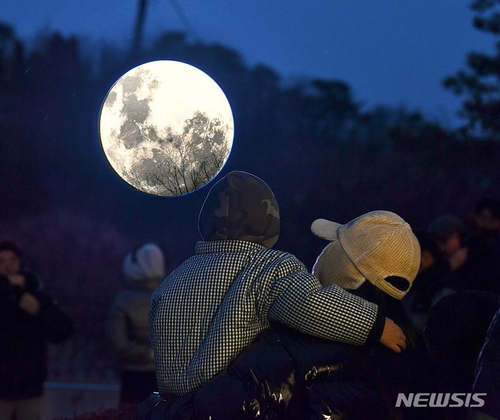
[[[46,340],[60,342],[72,332],[72,321],[57,303],[38,290],[38,281],[29,273],[24,288],[11,286],[0,276],[0,399],[17,400],[40,396],[47,378]],[[31,315],[19,308],[26,292],[40,302],[40,311]]]

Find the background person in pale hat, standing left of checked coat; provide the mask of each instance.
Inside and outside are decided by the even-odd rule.
[[[123,273],[124,290],[113,301],[108,336],[120,357],[120,402],[136,404],[157,389],[147,311],[151,294],[165,275],[163,252],[153,243],[139,246],[125,257]]]

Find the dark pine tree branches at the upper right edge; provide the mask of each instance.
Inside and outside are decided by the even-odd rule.
[[[468,70],[460,70],[444,80],[444,86],[455,95],[465,97],[461,115],[467,118],[463,132],[469,136],[500,140],[500,1],[475,0],[474,26],[497,38],[492,56],[471,52],[467,56]]]

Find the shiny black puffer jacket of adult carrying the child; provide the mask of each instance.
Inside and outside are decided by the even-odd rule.
[[[274,323],[195,394],[164,396],[138,419],[303,420],[349,409],[353,419],[385,420],[362,353]]]

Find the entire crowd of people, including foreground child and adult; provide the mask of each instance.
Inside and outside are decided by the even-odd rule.
[[[312,273],[273,250],[279,206],[248,173],[211,188],[199,229],[166,278],[153,243],[124,258],[108,337],[139,420],[500,418],[499,201],[421,232],[390,211],[315,220]],[[8,242],[0,299],[0,420],[40,419],[45,341],[72,322]]]

